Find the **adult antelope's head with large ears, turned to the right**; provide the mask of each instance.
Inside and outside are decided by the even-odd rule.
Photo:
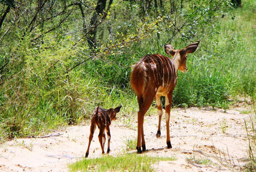
[[[186,72],[188,71],[188,68],[186,67],[187,54],[193,53],[198,47],[198,44],[199,44],[199,41],[186,46],[184,49],[178,49],[178,50],[174,50],[174,47],[172,47],[172,45],[166,44],[164,45],[164,50],[168,55],[171,55],[172,57],[174,57],[173,61],[174,61],[175,68],[177,68],[182,72]]]

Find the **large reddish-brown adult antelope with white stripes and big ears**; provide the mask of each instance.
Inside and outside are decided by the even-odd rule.
[[[146,55],[138,61],[132,69],[130,84],[137,94],[138,100],[138,138],[137,153],[141,154],[146,151],[146,144],[143,131],[143,119],[146,111],[150,108],[153,99],[156,99],[158,107],[158,132],[156,137],[161,135],[161,96],[166,97],[166,130],[167,130],[167,148],[172,148],[170,144],[169,122],[170,108],[172,106],[172,92],[177,83],[177,71],[186,72],[186,55],[193,53],[198,47],[199,41],[186,46],[184,49],[174,50],[170,44],[166,44],[164,49],[167,54],[174,57],[172,60],[164,55],[153,54]],[[142,147],[142,149],[141,149]]]

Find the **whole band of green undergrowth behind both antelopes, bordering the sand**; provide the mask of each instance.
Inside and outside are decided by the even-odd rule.
[[[188,17],[190,22],[197,12],[212,7],[208,2],[206,9],[191,3],[194,5],[184,7],[175,20]],[[137,23],[135,11],[130,24],[118,20],[128,16],[117,16],[113,27],[119,44],[108,47],[110,44],[102,43],[104,51],[96,55],[84,44],[74,47],[70,36],[56,39],[56,35],[46,34],[41,44],[34,44],[33,33],[21,37],[22,31],[17,29],[14,34],[19,39],[7,41],[0,53],[0,142],[82,122],[96,106],[107,109],[122,104],[122,114],[136,114],[137,99],[129,84],[132,65],[148,53],[165,54],[166,43],[182,49],[200,41],[196,52],[188,55],[188,72],[178,72],[174,106],[227,109],[239,95],[248,96],[255,106],[254,1],[236,9],[224,4],[180,34],[171,35],[175,21],[169,14]]]

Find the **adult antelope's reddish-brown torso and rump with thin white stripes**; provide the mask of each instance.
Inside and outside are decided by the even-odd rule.
[[[171,90],[175,87],[176,78],[172,60],[164,55],[153,54],[146,55],[134,65],[130,82],[135,92],[142,94],[146,86],[158,92]]]

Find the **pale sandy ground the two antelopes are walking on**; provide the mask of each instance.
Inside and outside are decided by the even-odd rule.
[[[244,120],[250,114],[241,109],[223,112],[189,108],[172,109],[170,141],[167,149],[166,126],[162,118],[161,138],[156,138],[158,115],[146,115],[144,122],[147,151],[143,154],[176,157],[154,164],[156,171],[234,171],[248,157]],[[122,114],[111,124],[111,152],[126,152],[127,139],[137,138],[137,117]],[[47,138],[23,138],[0,145],[0,171],[68,171],[68,164],[81,160],[87,149],[89,122],[50,133]],[[89,158],[101,157],[98,130],[90,146]],[[130,152],[136,152],[132,150]]]

